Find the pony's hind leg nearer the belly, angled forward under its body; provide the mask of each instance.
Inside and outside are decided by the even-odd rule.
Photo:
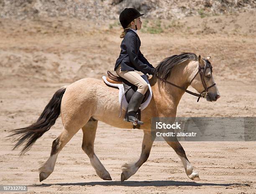
[[[112,180],[109,172],[106,168],[102,165],[99,158],[97,158],[94,152],[94,140],[97,130],[97,120],[90,119],[84,127],[82,127],[83,131],[83,143],[82,143],[82,150],[87,154],[90,158],[90,162],[92,167],[95,169],[96,174],[100,176],[103,180]]]

